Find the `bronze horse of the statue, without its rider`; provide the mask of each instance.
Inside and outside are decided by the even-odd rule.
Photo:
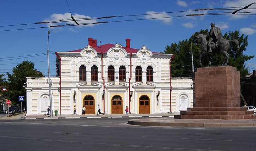
[[[205,34],[198,34],[196,35],[196,44],[202,46],[202,53],[199,56],[199,64],[202,67],[202,57],[207,54],[208,58],[209,58],[209,66],[211,66],[211,57],[210,57],[210,53],[207,53],[207,40],[206,40],[206,35]],[[212,44],[212,50],[213,53],[217,53],[217,52],[222,52],[222,54],[225,56],[222,65],[227,65],[228,64],[228,58],[229,58],[229,54],[227,53],[228,50],[231,49],[230,46],[230,42],[233,42],[236,46],[237,46],[237,50],[240,49],[239,47],[239,42],[238,40],[234,39],[234,40],[226,40],[224,38],[221,38],[217,41],[217,43],[219,44],[217,47],[214,44]]]

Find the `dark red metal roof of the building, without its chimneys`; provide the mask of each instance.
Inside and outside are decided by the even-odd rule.
[[[104,44],[102,46],[97,46],[97,47],[92,47],[94,48],[98,53],[106,53],[107,50],[109,50],[110,48],[114,47],[115,45],[114,44]],[[129,53],[137,53],[139,49],[134,49],[134,48],[126,48],[126,47],[123,47],[123,49],[126,50],[126,52],[129,54]],[[78,49],[78,50],[72,50],[72,51],[69,51],[69,52],[81,52],[82,49]],[[156,53],[156,52],[152,52],[152,53]]]

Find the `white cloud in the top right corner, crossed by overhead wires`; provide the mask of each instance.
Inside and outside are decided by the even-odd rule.
[[[228,0],[226,1],[226,3],[224,4],[224,7],[245,7],[251,3],[254,3],[255,0]],[[238,10],[239,8],[237,8]],[[235,10],[234,10],[235,11]],[[252,12],[252,13],[255,13],[256,10],[241,10],[241,11],[238,11],[238,12],[244,12],[244,11],[249,11],[249,12]],[[239,19],[239,18],[247,18],[249,17],[249,15],[239,15],[239,13],[237,14],[234,14],[234,15],[229,15],[231,16],[230,19]]]

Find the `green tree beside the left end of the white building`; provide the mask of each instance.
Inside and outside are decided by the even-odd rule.
[[[18,97],[24,96],[24,105],[26,102],[26,89],[24,83],[27,82],[27,77],[42,77],[41,72],[37,72],[34,69],[34,63],[30,61],[23,61],[21,64],[18,64],[12,69],[12,74],[7,73],[8,75],[8,86],[7,93],[8,98],[13,102],[12,104],[17,104],[19,102]]]

